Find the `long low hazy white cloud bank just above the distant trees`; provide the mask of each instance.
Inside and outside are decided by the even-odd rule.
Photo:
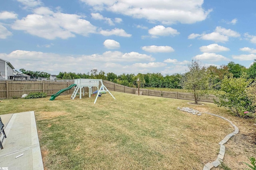
[[[55,53],[43,53],[40,51],[21,51],[16,50],[10,54],[1,54],[0,57],[8,59],[10,63],[18,70],[44,71],[50,74],[59,72],[86,72],[92,68],[104,70],[105,72],[114,72],[122,74],[123,72],[132,72],[136,66],[144,67],[147,71],[164,64],[152,63],[155,59],[150,55],[136,52],[121,53],[120,51],[106,51],[103,54],[93,55],[59,55]],[[107,61],[107,63],[106,63]],[[134,62],[149,62],[148,64],[134,64]],[[123,65],[123,64],[127,65]],[[130,63],[130,64],[129,64]],[[148,69],[146,68],[148,67]],[[134,68],[134,69],[131,69]],[[146,73],[146,72],[145,72]]]

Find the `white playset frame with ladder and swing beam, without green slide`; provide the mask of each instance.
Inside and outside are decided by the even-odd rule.
[[[73,94],[70,98],[72,100],[74,100],[74,98],[76,97],[78,89],[79,89],[80,99],[82,98],[82,93],[83,93],[83,96],[84,96],[84,87],[89,88],[89,98],[91,97],[91,94],[92,94],[92,87],[97,88],[98,92],[97,92],[97,95],[96,95],[96,99],[94,100],[94,104],[96,103],[96,101],[98,99],[98,96],[101,92],[108,92],[114,98],[114,96],[108,91],[106,86],[104,86],[104,84],[102,82],[102,79],[78,78],[78,79],[74,79],[74,84],[76,84],[76,88],[75,88],[75,90],[74,90],[74,92],[73,92]],[[100,86],[100,88],[99,88],[99,86]],[[82,92],[82,89],[83,89],[83,92]]]

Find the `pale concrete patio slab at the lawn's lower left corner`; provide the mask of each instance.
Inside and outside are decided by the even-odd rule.
[[[7,136],[2,143],[4,149],[0,150],[0,168],[44,170],[34,111],[0,117]]]

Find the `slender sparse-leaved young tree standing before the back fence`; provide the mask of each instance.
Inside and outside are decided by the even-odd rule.
[[[188,68],[189,71],[182,75],[180,85],[192,94],[194,103],[198,104],[202,96],[209,94],[212,78],[199,61],[192,61],[188,64]]]

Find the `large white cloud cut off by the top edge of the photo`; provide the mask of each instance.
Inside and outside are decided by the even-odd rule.
[[[91,5],[94,10],[146,18],[149,21],[159,21],[162,24],[196,23],[207,18],[212,10],[204,10],[203,0],[80,0]]]

